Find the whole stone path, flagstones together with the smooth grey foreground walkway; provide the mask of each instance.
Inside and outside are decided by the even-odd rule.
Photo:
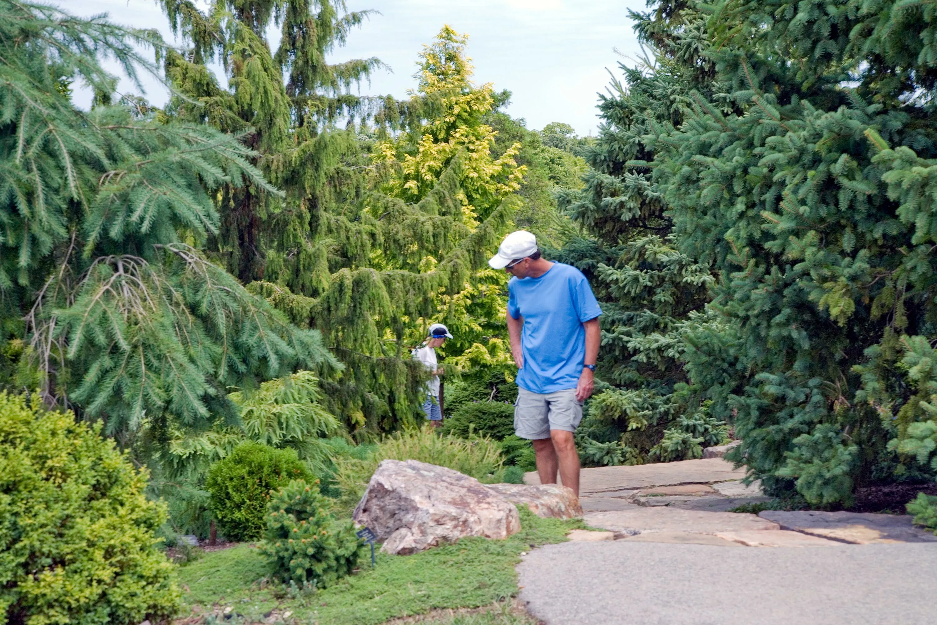
[[[599,531],[531,551],[521,600],[548,625],[933,622],[937,537],[910,516],[726,512],[768,500],[743,477],[721,457],[583,469]]]

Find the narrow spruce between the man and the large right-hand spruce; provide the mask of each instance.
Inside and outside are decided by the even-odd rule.
[[[592,464],[636,464],[699,457],[719,444],[724,425],[687,387],[683,367],[691,329],[712,323],[703,314],[713,278],[681,252],[667,205],[647,165],[656,150],[644,136],[662,124],[678,126],[694,88],[711,89],[711,63],[692,50],[702,19],[682,3],[661,3],[655,14],[633,14],[639,39],[655,60],[619,64],[600,97],[597,139],[581,144],[590,166],[582,190],[563,190],[559,206],[580,225],[558,253],[589,278],[602,303],[602,350],[597,387],[577,441]],[[544,128],[549,141],[569,147],[572,127]]]

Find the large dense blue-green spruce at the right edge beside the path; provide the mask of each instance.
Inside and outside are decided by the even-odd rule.
[[[642,141],[679,251],[717,277],[723,329],[688,339],[692,381],[736,412],[735,459],[772,492],[849,505],[932,478],[937,13],[690,6],[718,88]]]

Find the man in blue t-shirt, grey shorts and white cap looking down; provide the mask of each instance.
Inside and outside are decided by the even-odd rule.
[[[488,260],[513,275],[508,283],[508,334],[517,365],[514,430],[531,439],[541,484],[563,484],[579,495],[579,454],[573,432],[592,394],[599,355],[599,315],[585,275],[540,255],[528,231],[512,232]]]

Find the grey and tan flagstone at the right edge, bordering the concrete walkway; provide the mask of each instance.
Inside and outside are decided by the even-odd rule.
[[[908,514],[824,513],[810,510],[758,514],[783,529],[793,529],[845,543],[935,543],[937,536],[915,528]]]

